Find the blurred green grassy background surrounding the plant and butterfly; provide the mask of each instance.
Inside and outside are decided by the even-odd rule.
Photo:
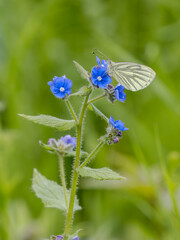
[[[45,209],[31,190],[33,168],[58,180],[56,156],[38,144],[58,132],[20,119],[39,113],[70,119],[47,82],[56,76],[85,84],[73,60],[88,71],[94,48],[113,61],[152,67],[157,77],[124,104],[97,102],[108,117],[129,127],[119,144],[104,147],[91,163],[108,166],[125,182],[80,181],[83,207],[72,231],[88,240],[180,239],[180,1],[0,1],[0,239],[37,240],[62,233],[64,215]],[[73,98],[78,111],[82,99]],[[105,132],[87,112],[85,151]],[[74,134],[74,132],[70,132]],[[72,159],[66,160],[68,185]]]

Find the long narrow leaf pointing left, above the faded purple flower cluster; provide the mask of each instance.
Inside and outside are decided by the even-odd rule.
[[[19,114],[19,116],[26,118],[34,123],[39,123],[48,127],[56,128],[60,131],[69,130],[73,128],[76,124],[74,120],[64,120],[44,114],[38,116]]]

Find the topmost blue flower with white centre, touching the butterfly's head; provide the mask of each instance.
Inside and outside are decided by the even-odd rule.
[[[107,85],[111,83],[112,79],[107,73],[107,61],[102,60],[102,64],[100,59],[96,57],[98,66],[93,67],[91,72],[91,81],[96,87],[100,87],[103,89],[107,88]]]

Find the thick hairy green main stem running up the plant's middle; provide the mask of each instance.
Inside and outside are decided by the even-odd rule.
[[[69,202],[69,209],[67,213],[66,218],[66,226],[65,226],[65,240],[68,238],[71,224],[72,224],[72,218],[73,218],[73,208],[74,208],[74,200],[76,196],[76,188],[77,188],[77,182],[78,182],[78,172],[76,169],[79,167],[80,162],[80,151],[81,151],[81,135],[82,135],[82,122],[84,113],[87,108],[87,102],[88,102],[89,95],[85,97],[85,101],[80,113],[79,117],[79,123],[77,124],[77,144],[76,144],[76,158],[74,163],[74,172],[73,172],[73,179],[72,179],[72,186],[71,186],[71,195],[70,195],[70,202]]]

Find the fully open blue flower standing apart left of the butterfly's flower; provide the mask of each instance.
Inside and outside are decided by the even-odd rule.
[[[48,82],[51,92],[57,98],[64,98],[66,94],[71,94],[72,81],[67,79],[66,76],[54,77],[53,81]]]

